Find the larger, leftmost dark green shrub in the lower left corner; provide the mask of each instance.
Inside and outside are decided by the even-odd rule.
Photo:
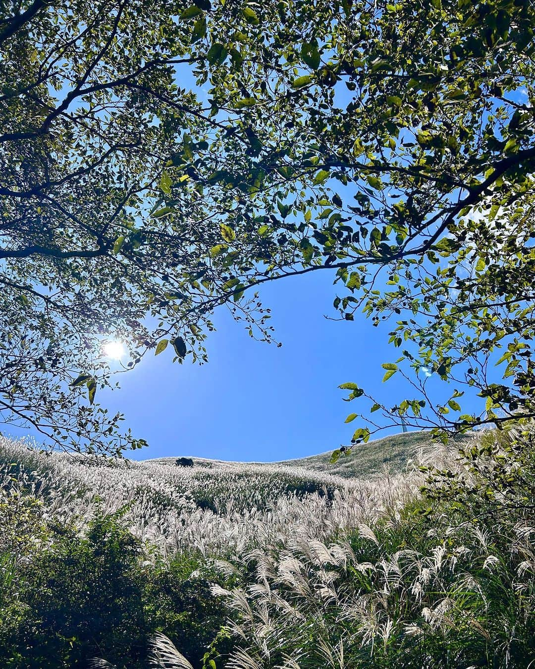
[[[4,665],[76,667],[106,648],[111,660],[140,666],[146,628],[138,549],[112,516],[92,522],[86,537],[57,537],[21,575],[25,608],[3,640]]]

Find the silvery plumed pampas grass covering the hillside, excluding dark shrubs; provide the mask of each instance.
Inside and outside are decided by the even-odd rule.
[[[285,466],[88,467],[0,440],[0,490],[34,501],[17,507],[34,526],[83,534],[98,513],[120,513],[147,568],[155,551],[195,551],[231,584],[211,589],[235,640],[217,669],[524,667],[535,660],[535,455],[517,447],[530,439],[426,447],[405,474],[372,481],[310,474],[330,496],[288,492],[309,474]],[[215,491],[215,508],[199,507],[199,488]],[[34,543],[25,559],[38,533]],[[165,636],[150,644],[154,669],[192,669]]]

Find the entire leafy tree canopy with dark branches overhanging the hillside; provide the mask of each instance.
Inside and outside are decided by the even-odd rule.
[[[120,416],[95,402],[106,337],[128,343],[130,367],[169,345],[204,361],[216,306],[270,339],[254,290],[318,270],[340,285],[341,318],[395,318],[385,380],[405,375],[414,395],[370,398],[378,427],[534,415],[534,13],[528,0],[4,8],[4,419],[122,448]],[[422,369],[452,382],[447,399]],[[481,413],[463,412],[465,385]]]

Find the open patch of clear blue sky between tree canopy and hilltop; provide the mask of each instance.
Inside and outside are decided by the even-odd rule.
[[[375,328],[362,314],[354,322],[324,318],[336,315],[333,279],[334,272],[321,271],[263,286],[281,348],[254,341],[220,308],[217,332],[205,343],[209,363],[173,365],[169,351],[148,355],[120,375],[120,389],[99,391],[100,403],[122,411],[123,425],[148,441],[132,456],[270,462],[348,444],[360,423],[344,420],[359,400],[343,401],[347,392],[338,385],[354,381],[394,399],[396,379],[381,384],[381,363],[397,351],[387,343],[389,324]],[[9,425],[1,431],[31,434]]]

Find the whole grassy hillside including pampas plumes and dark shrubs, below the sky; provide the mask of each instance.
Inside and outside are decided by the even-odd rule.
[[[0,666],[526,669],[535,430],[460,445],[190,467],[0,438]]]

